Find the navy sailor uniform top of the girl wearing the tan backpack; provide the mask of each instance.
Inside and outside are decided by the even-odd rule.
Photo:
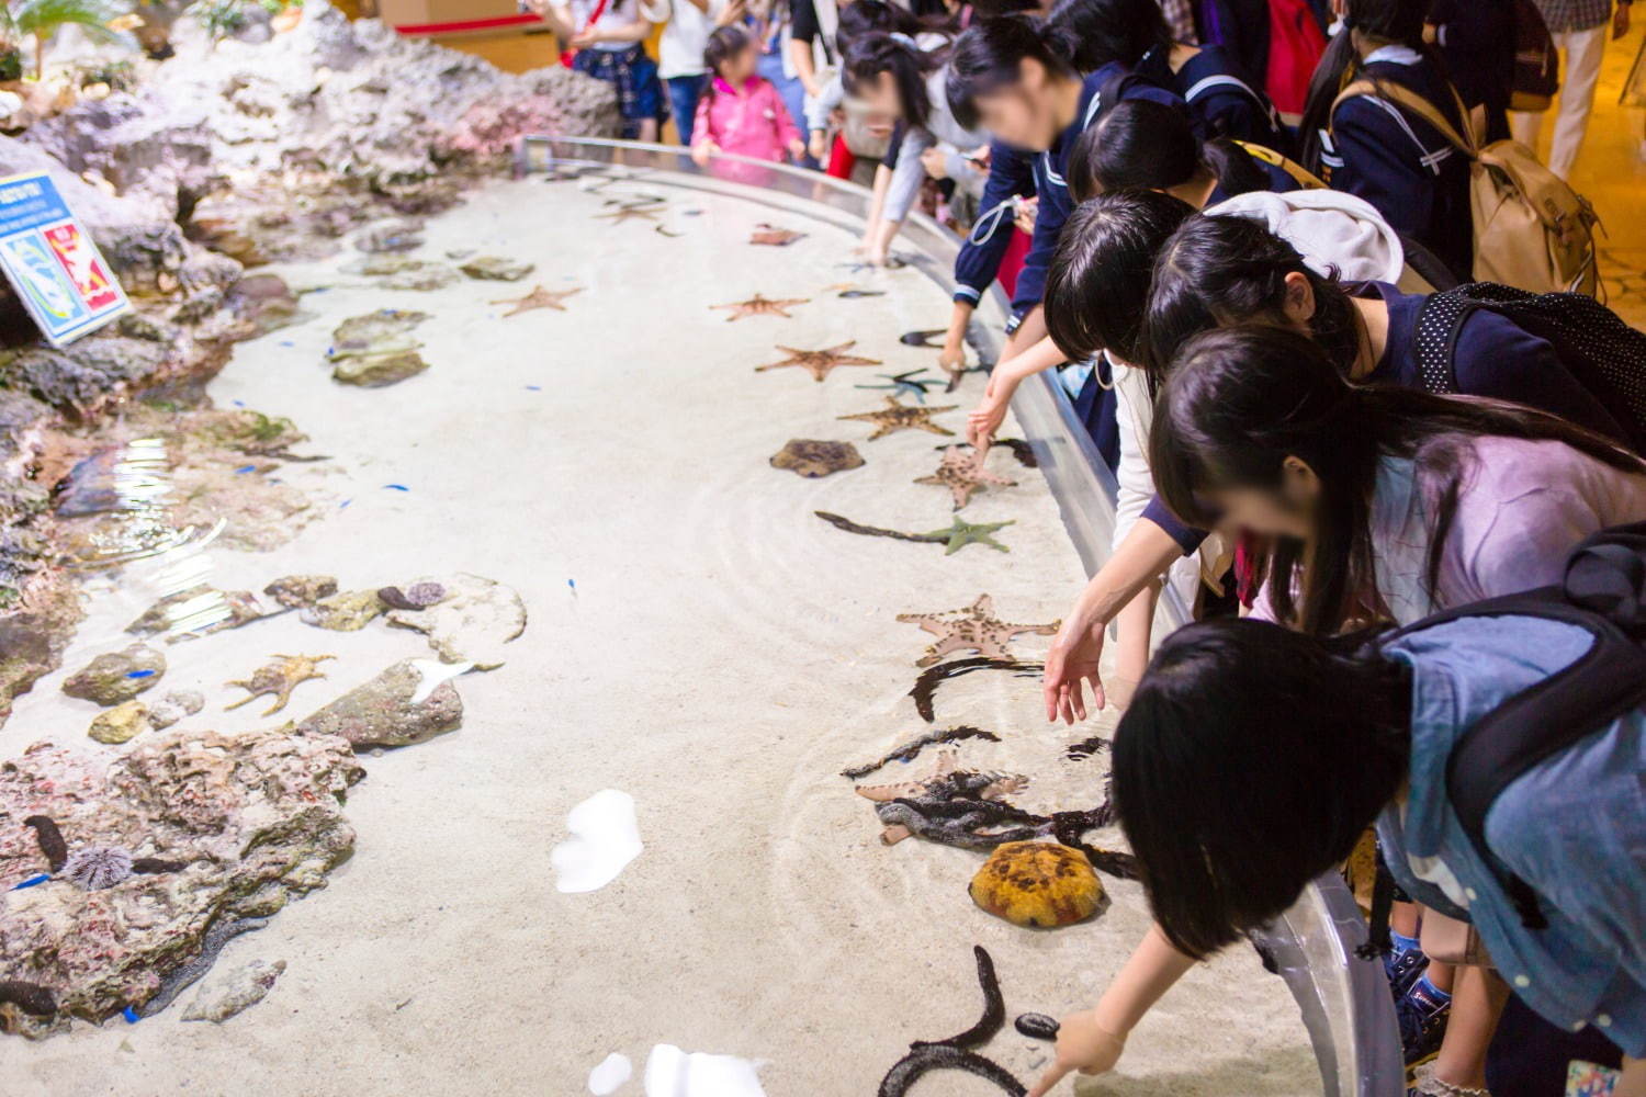
[[[1407,87],[1463,128],[1445,76],[1407,46],[1366,58],[1356,79]],[[1320,133],[1320,176],[1360,196],[1394,229],[1435,253],[1460,280],[1475,266],[1468,158],[1439,130],[1374,95],[1343,102]]]

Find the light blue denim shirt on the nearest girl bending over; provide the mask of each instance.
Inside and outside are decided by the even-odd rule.
[[[1463,832],[1445,788],[1453,743],[1508,697],[1570,666],[1590,646],[1575,625],[1529,617],[1463,618],[1393,641],[1412,668],[1412,757],[1404,809],[1378,819],[1389,870],[1412,898],[1467,916],[1503,979],[1554,1025],[1595,1025],[1646,1056],[1646,714],[1532,766],[1486,814],[1486,845],[1537,895],[1546,929],[1514,903]],[[1447,877],[1458,901],[1420,880]],[[1467,906],[1467,911],[1458,910]]]

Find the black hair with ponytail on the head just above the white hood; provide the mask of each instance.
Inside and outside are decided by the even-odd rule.
[[[1152,99],[1124,99],[1075,140],[1068,189],[1076,202],[1126,187],[1165,191],[1197,178],[1225,194],[1267,191],[1269,176],[1228,138],[1202,141],[1188,112]]]

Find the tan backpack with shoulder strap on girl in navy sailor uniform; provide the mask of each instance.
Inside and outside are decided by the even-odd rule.
[[[1457,90],[1453,89],[1453,97]],[[1470,158],[1470,206],[1475,220],[1475,281],[1495,281],[1531,293],[1600,293],[1593,206],[1516,141],[1481,148],[1458,99],[1465,133],[1440,110],[1399,84],[1355,81],[1332,104],[1358,95],[1386,99],[1432,125]]]

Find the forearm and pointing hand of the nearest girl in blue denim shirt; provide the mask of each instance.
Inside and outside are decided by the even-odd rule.
[[[1063,1018],[1057,1030],[1057,1061],[1029,1090],[1029,1097],[1045,1097],[1075,1071],[1113,1071],[1126,1051],[1131,1030],[1193,965],[1195,960],[1174,949],[1157,926],[1149,926],[1098,1005]]]

